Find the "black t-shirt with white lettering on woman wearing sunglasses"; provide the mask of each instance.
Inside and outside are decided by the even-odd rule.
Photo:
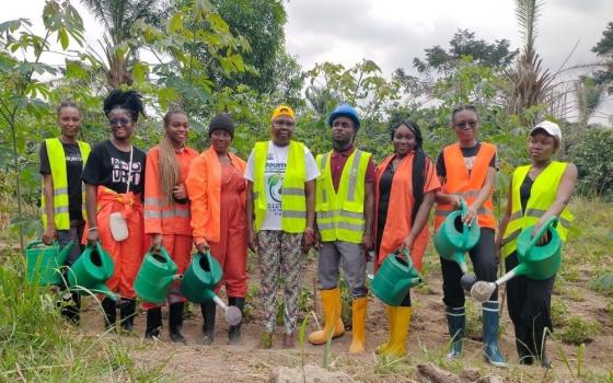
[[[144,190],[144,159],[147,154],[136,147],[132,148],[129,190],[142,196]],[[129,162],[130,152],[120,151],[109,140],[102,141],[90,153],[83,170],[83,182],[90,185],[106,186],[116,193],[126,193]]]

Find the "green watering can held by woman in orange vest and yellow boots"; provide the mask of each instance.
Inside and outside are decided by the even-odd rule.
[[[413,267],[406,248],[388,255],[374,276],[370,288],[377,298],[391,306],[398,306],[408,289],[421,283],[419,272]]]

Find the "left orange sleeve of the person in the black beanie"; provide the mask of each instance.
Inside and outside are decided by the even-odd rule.
[[[187,194],[192,201],[192,229],[194,230],[194,239],[198,243],[199,239],[206,237],[206,214],[209,204],[208,179],[207,179],[207,162],[205,156],[200,154],[189,166],[189,173],[185,179]],[[201,240],[200,240],[201,242]]]

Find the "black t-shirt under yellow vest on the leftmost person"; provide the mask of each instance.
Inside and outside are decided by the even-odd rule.
[[[83,158],[81,149],[77,143],[65,143],[63,154],[66,156],[66,178],[68,183],[68,214],[71,221],[83,220],[81,213],[82,204],[82,183],[81,174],[83,173]],[[41,174],[51,174],[51,164],[47,154],[47,144],[45,141],[41,144]]]

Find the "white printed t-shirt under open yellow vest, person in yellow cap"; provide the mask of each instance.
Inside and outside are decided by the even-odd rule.
[[[284,175],[286,173],[289,144],[277,147],[273,141],[268,142],[268,154],[266,155],[266,167],[264,170],[264,182],[266,189],[266,217],[261,230],[281,230],[281,217],[284,209],[281,206],[281,189]],[[245,169],[245,178],[253,182],[254,162],[253,150],[251,151]],[[304,159],[307,160],[307,181],[315,179],[320,176],[320,169],[315,163],[313,154],[309,148],[304,147]]]

